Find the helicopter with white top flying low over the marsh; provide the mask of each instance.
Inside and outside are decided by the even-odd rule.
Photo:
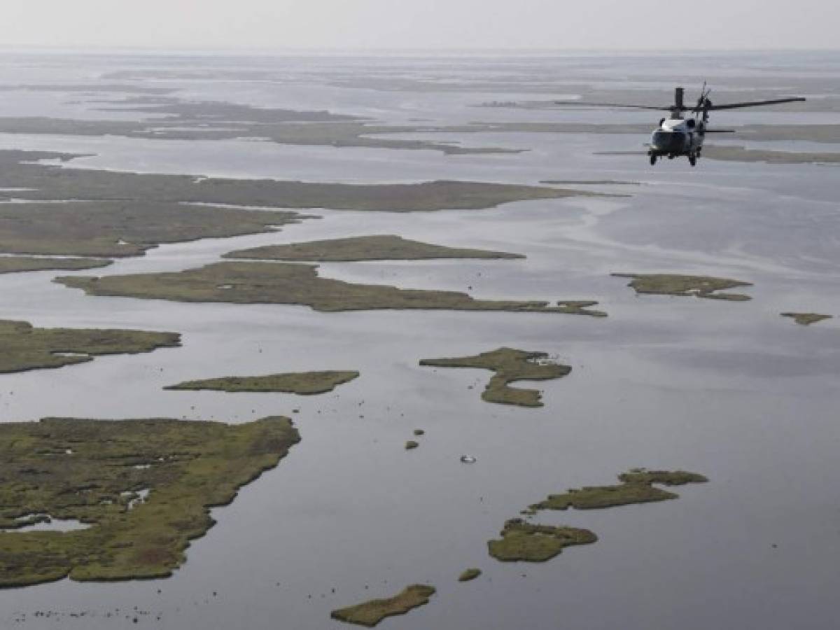
[[[669,112],[668,118],[659,121],[659,127],[654,129],[648,144],[648,157],[650,164],[655,165],[660,157],[667,156],[669,160],[685,155],[690,165],[696,166],[703,150],[703,140],[706,134],[733,134],[733,129],[709,129],[709,112],[718,109],[754,108],[760,105],[779,105],[783,102],[804,101],[804,97],[774,98],[769,101],[746,101],[729,102],[723,105],[715,105],[711,102],[709,95],[711,88],[706,88],[703,83],[700,97],[693,108],[685,106],[685,88],[675,87],[674,104],[667,107],[655,107],[650,105],[627,105],[616,102],[581,102],[581,101],[555,101],[557,105],[585,105],[592,107],[606,108],[633,108],[653,109],[656,111],[665,110]],[[694,118],[683,118],[683,113],[694,114]]]

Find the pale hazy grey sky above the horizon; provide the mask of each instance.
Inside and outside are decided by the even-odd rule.
[[[0,0],[4,46],[838,48],[837,0]]]

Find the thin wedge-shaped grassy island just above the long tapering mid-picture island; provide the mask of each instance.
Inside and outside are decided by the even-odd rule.
[[[431,260],[445,258],[514,259],[520,254],[486,249],[464,249],[403,239],[393,234],[355,236],[349,239],[313,240],[306,243],[266,245],[239,249],[223,256],[245,260],[309,260],[353,262],[357,260]]]

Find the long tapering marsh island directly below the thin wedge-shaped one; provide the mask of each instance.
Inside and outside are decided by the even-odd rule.
[[[318,276],[317,265],[221,262],[199,269],[130,276],[63,276],[57,282],[94,296],[176,302],[303,304],[316,311],[444,309],[452,311],[569,312],[549,302],[479,300],[457,291],[361,285]]]

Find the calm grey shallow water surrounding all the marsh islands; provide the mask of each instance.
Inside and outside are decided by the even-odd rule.
[[[756,81],[787,80],[791,72],[837,76],[835,56],[730,56],[727,74]],[[25,61],[25,67],[14,60],[2,66],[3,81],[36,82],[38,76],[55,81],[50,64],[69,63],[49,57]],[[76,60],[75,74],[66,80],[78,75],[80,81],[96,81],[102,72],[136,68],[250,68],[268,72],[274,82],[239,82],[242,89],[233,96],[229,81],[214,81],[212,73],[205,80],[133,82],[175,86],[182,96],[330,108],[385,122],[423,117],[457,123],[495,115],[471,108],[475,102],[519,97],[507,77],[522,68],[538,77],[548,71],[553,77],[589,77],[620,86],[622,73],[667,84],[669,72],[680,67],[679,58],[664,60],[663,70],[659,60],[648,57],[598,55],[515,61],[513,70],[501,71],[494,59],[368,60],[373,71],[403,79],[449,76],[457,82],[480,73],[481,81],[498,81],[499,92],[489,94],[352,87],[365,78],[362,62],[324,58],[234,64],[218,58],[85,57]],[[30,72],[34,78],[28,78]],[[350,87],[336,85],[336,77]],[[15,103],[28,107],[18,96],[8,96],[3,113],[15,110]],[[67,107],[78,106],[54,98],[50,115],[66,116]],[[561,114],[499,115],[560,120]],[[767,114],[777,116],[773,122],[778,123],[833,115]],[[570,122],[596,118],[592,112],[562,116]],[[638,114],[627,119],[648,120]],[[475,297],[591,298],[610,313],[606,320],[181,304],[85,297],[50,282],[71,275],[66,272],[0,276],[0,318],[39,326],[174,330],[183,334],[184,344],[3,375],[0,421],[69,416],[241,423],[280,413],[293,417],[302,435],[276,470],[244,487],[231,506],[213,510],[217,525],[192,543],[186,564],[171,579],[64,580],[0,591],[0,626],[137,627],[137,617],[141,626],[179,630],[340,627],[328,617],[333,608],[424,581],[438,587],[432,602],[381,627],[786,630],[832,625],[840,586],[840,319],[806,328],[779,313],[840,316],[835,171],[712,160],[701,160],[696,169],[685,160],[651,169],[643,155],[593,155],[640,150],[646,139],[633,135],[443,134],[439,139],[529,151],[445,156],[235,141],[0,138],[3,148],[97,153],[68,166],[151,172],[309,181],[643,182],[585,186],[630,197],[521,202],[482,211],[317,210],[320,219],[274,234],[165,245],[141,258],[78,272],[181,270],[261,244],[400,234],[502,249],[528,259],[329,264],[321,265],[321,273],[347,281],[469,291]],[[628,271],[751,281],[754,286],[744,292],[753,300],[637,297],[627,279],[609,276]],[[524,409],[481,402],[489,372],[417,365],[423,358],[476,354],[501,345],[546,351],[573,371],[536,385],[544,391],[545,407]],[[361,377],[323,396],[161,389],[197,378],[297,370],[360,370]],[[426,434],[418,438],[419,449],[406,452],[403,444],[415,428]],[[474,455],[475,465],[462,464],[463,454]],[[487,555],[486,541],[523,507],[567,487],[610,483],[633,466],[684,468],[711,481],[677,489],[678,501],[541,513],[538,522],[590,528],[600,538],[546,564],[501,564]],[[459,584],[457,576],[470,566],[484,574]],[[36,611],[55,616],[34,617]],[[84,617],[71,617],[82,612]]]

